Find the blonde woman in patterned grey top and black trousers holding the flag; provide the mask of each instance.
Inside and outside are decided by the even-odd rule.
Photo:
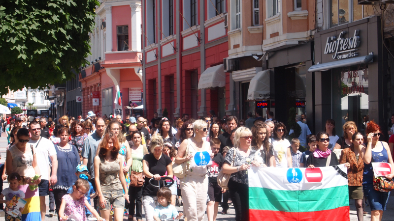
[[[249,221],[249,181],[246,170],[251,165],[261,166],[253,160],[256,150],[251,147],[252,139],[252,132],[248,128],[238,128],[233,139],[235,149],[229,150],[223,165],[223,172],[231,174],[228,186],[236,221]]]

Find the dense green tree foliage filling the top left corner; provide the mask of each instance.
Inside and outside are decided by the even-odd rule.
[[[87,63],[97,0],[0,0],[0,94],[72,78]]]

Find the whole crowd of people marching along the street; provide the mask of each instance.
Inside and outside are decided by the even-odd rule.
[[[301,134],[288,139],[294,130],[288,133],[273,112],[267,111],[266,120],[261,111],[256,116],[249,112],[246,120],[238,121],[211,112],[197,120],[183,114],[171,122],[155,113],[150,121],[139,115],[123,121],[120,115],[101,118],[90,111],[85,119],[66,115],[59,120],[23,115],[3,119],[8,147],[1,177],[9,188],[2,190],[0,203],[9,203],[12,194],[27,201],[19,217],[5,219],[45,220],[49,195],[49,217],[59,220],[75,216],[80,221],[90,217],[122,221],[124,216],[134,220],[135,215],[142,221],[143,209],[147,221],[202,221],[205,212],[208,221],[215,221],[219,205],[222,214],[228,213],[230,198],[235,220],[248,221],[247,170],[252,166],[339,164],[348,168],[349,199],[355,200],[359,221],[365,205],[371,208],[372,221],[382,219],[389,193],[374,189],[371,163],[385,162],[394,168],[394,135],[389,145],[371,120],[364,133],[355,122],[345,122],[339,137],[332,119],[324,131],[312,135],[303,114],[296,116]],[[212,165],[191,163],[194,153],[201,151],[211,151]],[[227,189],[218,184],[220,171],[230,174]],[[386,176],[393,177],[394,172]],[[181,205],[183,213],[175,207]]]

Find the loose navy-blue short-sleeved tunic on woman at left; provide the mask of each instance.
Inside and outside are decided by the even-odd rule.
[[[74,145],[70,145],[69,149],[62,149],[59,144],[55,144],[55,149],[58,158],[58,183],[53,189],[67,191],[77,180],[75,168],[80,164],[78,150]]]

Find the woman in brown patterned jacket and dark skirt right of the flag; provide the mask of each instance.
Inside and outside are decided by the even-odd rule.
[[[360,132],[357,132],[352,137],[353,143],[350,148],[342,150],[339,164],[349,166],[348,169],[348,186],[349,186],[349,199],[354,199],[357,210],[357,218],[363,221],[363,203],[362,198],[362,171],[364,170],[364,162],[360,157],[361,149],[364,147],[364,138]]]

